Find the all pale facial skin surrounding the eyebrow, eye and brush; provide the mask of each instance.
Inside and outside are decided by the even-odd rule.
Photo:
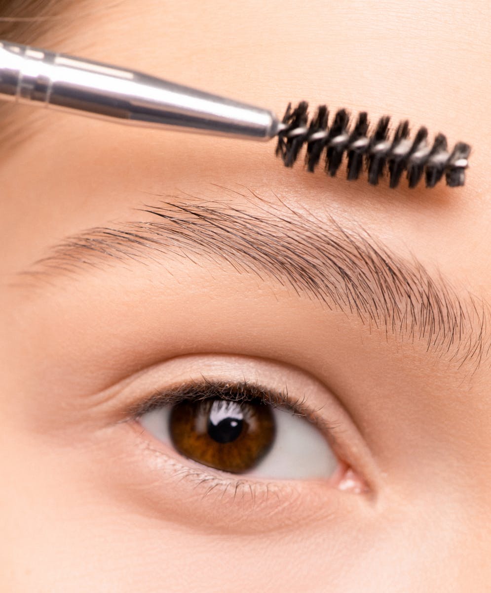
[[[149,220],[134,209],[162,195],[258,211],[246,186],[361,224],[489,297],[489,2],[139,0],[89,14],[96,5],[40,45],[280,114],[304,99],[407,117],[471,144],[472,168],[460,189],[394,191],[287,170],[272,144],[20,107],[36,133],[3,146],[0,164],[0,589],[488,591],[489,360],[458,369],[199,256],[36,291],[12,280],[66,235]],[[341,454],[367,489],[270,480],[266,499],[265,480],[250,479],[234,500],[230,476],[211,492],[176,477],[196,466],[118,420],[210,368],[307,393],[342,426]]]

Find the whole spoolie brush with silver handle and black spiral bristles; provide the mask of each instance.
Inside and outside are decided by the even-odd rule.
[[[447,185],[464,185],[470,146],[457,142],[451,154],[447,139],[438,134],[433,146],[421,127],[413,141],[409,123],[401,122],[389,139],[389,116],[381,117],[368,135],[363,111],[351,130],[349,113],[336,112],[329,127],[326,106],[309,123],[308,104],[291,103],[280,122],[266,109],[184,87],[156,76],[0,40],[0,98],[50,109],[84,114],[133,126],[174,128],[188,132],[269,140],[278,136],[276,154],[291,167],[307,144],[307,170],[314,171],[325,152],[325,170],[335,176],[344,154],[348,179],[358,179],[365,162],[368,182],[376,185],[389,170],[390,187],[397,187],[403,171],[409,187],[425,173],[426,187],[434,187],[445,173]]]

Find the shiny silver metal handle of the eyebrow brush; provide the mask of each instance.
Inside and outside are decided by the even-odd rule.
[[[0,98],[134,126],[268,140],[280,129],[268,110],[143,72],[0,41]]]

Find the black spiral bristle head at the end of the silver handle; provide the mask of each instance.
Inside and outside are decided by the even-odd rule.
[[[305,164],[307,171],[313,172],[325,150],[325,170],[335,176],[346,152],[348,180],[360,177],[363,161],[366,160],[368,183],[377,185],[389,170],[389,187],[397,187],[406,171],[409,187],[416,187],[423,174],[426,187],[434,187],[445,173],[447,185],[464,185],[465,170],[471,148],[465,142],[457,142],[449,155],[447,139],[443,134],[435,137],[433,145],[428,145],[428,130],[420,127],[413,140],[409,138],[409,122],[400,122],[389,138],[390,116],[381,117],[368,135],[368,116],[365,111],[358,114],[357,122],[351,132],[348,129],[350,115],[346,109],[339,109],[328,126],[329,110],[325,105],[317,108],[315,117],[309,123],[308,103],[301,101],[295,109],[288,103],[278,132],[276,154],[281,156],[287,167],[292,167],[299,157],[302,146],[307,144]],[[387,167],[386,167],[387,165]]]

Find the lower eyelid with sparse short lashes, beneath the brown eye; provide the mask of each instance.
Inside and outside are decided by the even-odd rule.
[[[135,493],[136,511],[142,512],[144,499],[152,517],[187,524],[193,532],[256,534],[295,529],[312,522],[352,519],[354,512],[366,514],[372,505],[370,497],[342,492],[326,480],[238,479],[179,459],[135,420],[118,428],[124,429],[124,446],[130,451],[127,463],[138,468],[136,476],[132,470],[118,474]]]

